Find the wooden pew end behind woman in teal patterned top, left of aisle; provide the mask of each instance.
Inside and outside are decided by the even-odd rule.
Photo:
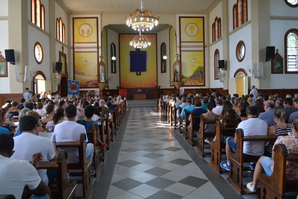
[[[101,130],[103,130],[103,125],[100,125],[100,127],[102,128]],[[100,170],[100,146],[97,143],[97,131],[100,131],[100,129],[96,129],[96,124],[92,125],[92,130],[87,130],[86,133],[91,134],[91,140],[90,142],[94,145],[94,153],[93,153],[93,165],[94,165],[94,170],[95,170],[95,174],[94,174],[94,178],[97,177],[97,174],[99,173]]]

